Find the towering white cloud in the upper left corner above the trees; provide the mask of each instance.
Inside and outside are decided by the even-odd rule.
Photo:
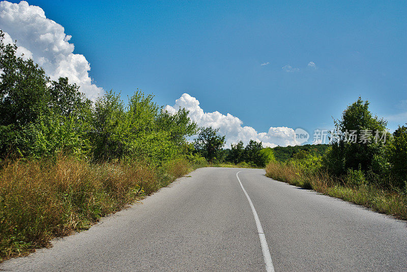
[[[25,1],[0,2],[0,29],[7,33],[6,42],[17,40],[17,53],[32,58],[52,80],[68,77],[71,84],[79,85],[81,92],[92,100],[103,92],[92,83],[89,62],[83,55],[73,53],[71,36],[65,34],[62,25],[47,19],[40,7]]]

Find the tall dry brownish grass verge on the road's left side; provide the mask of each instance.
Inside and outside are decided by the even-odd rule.
[[[92,165],[69,157],[12,162],[0,170],[0,262],[49,246],[50,239],[88,229],[191,170],[179,159]]]

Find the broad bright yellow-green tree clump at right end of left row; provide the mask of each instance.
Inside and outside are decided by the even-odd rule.
[[[95,160],[136,159],[154,166],[190,153],[186,138],[196,131],[187,111],[169,114],[138,90],[127,106],[112,91],[100,97],[92,123]]]

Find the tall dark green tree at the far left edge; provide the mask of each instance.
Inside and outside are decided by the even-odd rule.
[[[16,57],[15,44],[3,40],[0,30],[0,152],[25,155],[35,143],[35,121],[46,114],[49,79],[32,60]]]

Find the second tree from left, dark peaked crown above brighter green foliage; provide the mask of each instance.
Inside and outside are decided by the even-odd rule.
[[[92,101],[76,84],[69,84],[67,77],[52,81],[49,93],[49,114],[36,121],[36,152],[39,156],[60,151],[89,155]]]

